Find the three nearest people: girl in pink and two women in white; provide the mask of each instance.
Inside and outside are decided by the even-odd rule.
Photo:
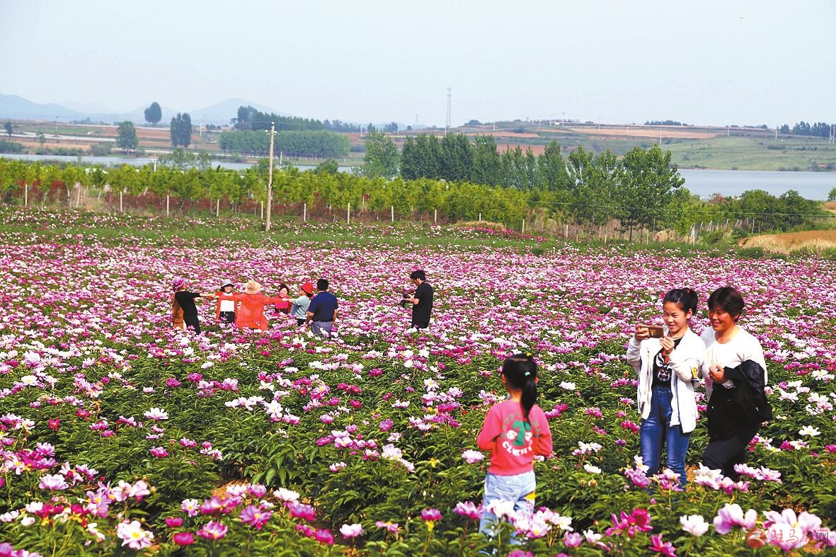
[[[708,298],[711,326],[696,335],[693,289],[672,289],[662,299],[663,327],[636,324],[626,360],[639,376],[640,452],[648,476],[667,468],[686,485],[686,453],[696,428],[695,387],[705,379],[709,444],[702,463],[737,481],[736,464],[763,422],[772,419],[764,387],[767,364],[760,342],[737,324],[742,294],[731,286]],[[490,451],[480,529],[493,535],[497,513],[513,508],[531,514],[537,483],[533,459],[552,452],[552,434],[537,401],[538,366],[532,355],[516,354],[502,363],[508,396],[487,412],[477,445]]]

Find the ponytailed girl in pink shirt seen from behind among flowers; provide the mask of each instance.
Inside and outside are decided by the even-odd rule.
[[[485,478],[479,531],[493,535],[494,509],[507,503],[517,514],[534,512],[534,455],[552,453],[552,432],[546,415],[537,406],[537,364],[530,355],[515,354],[502,362],[502,384],[508,398],[493,405],[482,423],[477,444],[491,451]]]

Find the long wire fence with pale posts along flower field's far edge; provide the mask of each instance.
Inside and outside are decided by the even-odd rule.
[[[378,222],[390,224],[403,222],[421,222],[432,225],[447,226],[456,222],[486,222],[482,213],[468,218],[450,217],[443,211],[418,210],[415,207],[390,205],[389,207],[370,207],[367,197],[362,197],[359,204],[352,207],[335,206],[332,202],[319,201],[319,195],[314,202],[287,202],[281,199],[272,203],[271,216],[277,220],[298,222],[342,222],[346,225],[363,222]],[[479,197],[459,195],[458,199],[477,202]],[[23,207],[67,207],[71,209],[94,212],[134,212],[148,215],[180,217],[180,216],[214,216],[217,218],[247,217],[259,221],[265,220],[266,207],[264,202],[255,198],[245,198],[240,202],[224,198],[183,199],[171,195],[163,196],[146,191],[140,195],[125,192],[114,192],[110,187],[85,187],[76,184],[66,187],[63,182],[54,182],[50,187],[37,190],[20,187],[19,191],[8,191],[3,196],[3,203]],[[568,207],[594,211],[597,222],[572,222],[562,219],[560,214]],[[728,235],[737,231],[749,235],[771,233],[777,230],[776,223],[787,219],[818,222],[822,227],[832,227],[836,221],[833,213],[792,213],[792,212],[747,212],[744,217],[726,218],[698,222],[691,225],[687,232],[676,232],[671,229],[651,229],[650,227],[622,226],[614,213],[623,210],[624,206],[614,204],[594,204],[579,202],[531,202],[522,223],[501,222],[503,226],[521,235],[545,236],[549,238],[564,238],[569,240],[626,240],[631,242],[678,241],[698,243],[706,234]],[[555,213],[558,213],[557,215]]]

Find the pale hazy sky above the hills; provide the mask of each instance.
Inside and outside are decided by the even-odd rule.
[[[0,0],[0,93],[444,125],[450,87],[453,125],[772,127],[836,121],[834,28],[831,0]]]

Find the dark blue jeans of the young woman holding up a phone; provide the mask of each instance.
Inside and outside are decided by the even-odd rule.
[[[650,416],[641,421],[641,458],[648,467],[648,476],[659,473],[662,442],[665,442],[668,468],[679,474],[680,483],[682,487],[685,487],[685,456],[688,452],[688,443],[691,442],[691,433],[683,433],[682,426],[670,425],[670,415],[673,413],[672,399],[673,393],[670,392],[670,386],[653,387],[650,398]]]

